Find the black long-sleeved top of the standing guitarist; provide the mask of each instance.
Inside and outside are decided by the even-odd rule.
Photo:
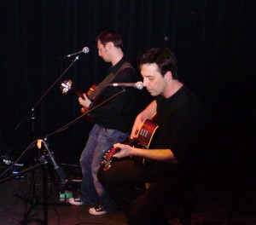
[[[108,69],[108,74],[117,72],[125,61],[125,57],[123,57],[115,66]],[[121,72],[118,72],[118,75],[111,83],[136,83],[138,79],[135,70],[132,67],[126,67]],[[120,87],[108,86],[101,94],[102,101],[116,95],[120,90],[122,90]],[[96,108],[91,113],[91,116],[96,118],[96,124],[108,129],[130,132],[137,116],[137,107],[140,106],[140,103],[137,102],[138,92],[139,90],[135,88],[125,88],[125,92]]]

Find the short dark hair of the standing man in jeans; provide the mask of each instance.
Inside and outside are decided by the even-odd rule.
[[[117,32],[112,32],[112,31],[104,31],[102,32],[97,38],[96,42],[101,41],[101,43],[105,46],[106,43],[112,42],[113,46],[117,48],[122,48],[123,47],[123,39]]]

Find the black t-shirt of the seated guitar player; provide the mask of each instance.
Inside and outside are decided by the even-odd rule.
[[[201,154],[201,135],[205,123],[203,107],[185,86],[166,99],[157,99],[158,148],[168,148],[181,167],[195,170]]]

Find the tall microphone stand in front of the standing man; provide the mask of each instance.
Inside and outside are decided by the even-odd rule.
[[[15,126],[15,130],[18,130],[20,125],[26,120],[26,118],[28,118],[28,116],[30,116],[31,119],[31,140],[35,139],[35,120],[36,120],[36,113],[35,113],[35,108],[38,106],[38,104],[44,100],[44,97],[49,93],[49,91],[51,89],[53,89],[53,87],[55,86],[55,84],[66,74],[66,72],[68,71],[68,69],[73,66],[75,61],[79,60],[79,56],[76,56],[75,59],[72,61],[72,63],[67,66],[67,69],[61,73],[61,75],[59,76],[59,78],[57,78],[55,80],[55,82],[49,87],[49,89],[47,89],[44,92],[44,95],[42,95],[38,101],[32,106],[31,111],[29,113],[26,114],[26,116],[24,118],[22,118],[20,120],[20,122]],[[33,155],[31,156],[31,162],[32,164],[35,164],[35,161],[37,160],[35,157],[35,153],[33,153]],[[36,189],[35,189],[35,182],[34,182],[34,178],[35,178],[35,170],[32,170],[32,182],[31,182],[31,190],[32,190],[32,200],[31,200],[31,205],[37,205],[38,204],[38,200],[36,198]],[[20,198],[20,199],[24,199],[24,200],[29,200],[26,198],[23,198],[17,194],[14,194],[16,197]]]

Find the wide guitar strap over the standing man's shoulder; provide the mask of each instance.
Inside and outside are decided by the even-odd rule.
[[[113,79],[119,74],[119,72],[121,72],[125,68],[132,68],[133,69],[133,67],[131,66],[131,63],[125,61],[123,63],[123,65],[119,67],[117,72],[109,73],[108,76],[106,78],[104,78],[102,80],[102,82],[96,86],[96,89],[94,89],[93,92],[90,94],[90,101],[95,102],[97,100],[97,98],[99,97],[99,95],[101,95],[102,91],[108,86],[108,84],[110,84],[113,81]],[[93,104],[91,104],[90,107],[92,105]]]

